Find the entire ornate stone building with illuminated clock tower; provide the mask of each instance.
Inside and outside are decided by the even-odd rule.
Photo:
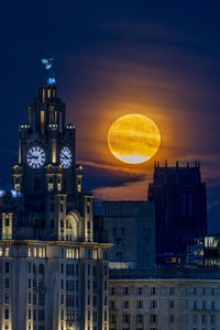
[[[0,191],[0,329],[108,330],[108,250],[94,242],[75,127],[53,75],[19,129],[14,190]]]

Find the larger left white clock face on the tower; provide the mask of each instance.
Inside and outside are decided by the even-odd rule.
[[[26,163],[31,168],[41,168],[46,162],[46,154],[43,147],[34,145],[26,153]]]

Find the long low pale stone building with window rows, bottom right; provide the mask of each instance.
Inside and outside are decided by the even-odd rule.
[[[220,273],[216,270],[110,272],[110,330],[218,330]]]

